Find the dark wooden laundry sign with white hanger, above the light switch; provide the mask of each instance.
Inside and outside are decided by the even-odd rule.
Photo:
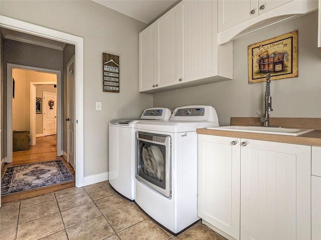
[[[119,56],[103,52],[102,65],[102,90],[119,92]]]

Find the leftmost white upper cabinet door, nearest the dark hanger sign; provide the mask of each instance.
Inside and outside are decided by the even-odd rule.
[[[158,82],[157,24],[139,33],[139,91],[152,89]]]

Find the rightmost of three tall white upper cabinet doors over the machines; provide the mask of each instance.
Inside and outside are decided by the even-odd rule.
[[[216,60],[215,55],[217,55],[217,47],[213,45],[213,38],[217,35],[217,21],[213,20],[213,16],[216,15],[214,11],[217,9],[216,2],[193,0],[182,1],[180,4],[183,34],[181,46],[183,48],[183,74],[180,77],[183,81],[204,78],[206,76],[201,74],[213,71],[213,61]],[[198,75],[201,76],[197,77]]]

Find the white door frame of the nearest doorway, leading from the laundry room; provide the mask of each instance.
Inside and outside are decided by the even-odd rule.
[[[75,162],[76,186],[84,185],[84,39],[69,33],[0,15],[0,27],[75,45]],[[1,113],[0,113],[1,117]],[[1,118],[0,118],[1,119]],[[0,139],[1,141],[1,139]],[[1,142],[0,142],[1,143]]]

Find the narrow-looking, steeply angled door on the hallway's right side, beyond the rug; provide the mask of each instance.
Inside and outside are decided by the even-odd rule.
[[[70,59],[67,64],[67,112],[68,116],[66,118],[67,121],[67,161],[73,167],[75,165],[75,55]]]

